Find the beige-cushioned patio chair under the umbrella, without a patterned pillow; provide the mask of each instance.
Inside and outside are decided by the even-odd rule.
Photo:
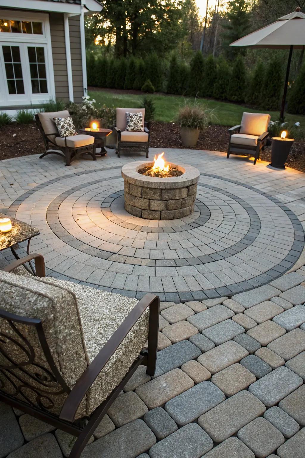
[[[227,159],[230,154],[254,156],[253,165],[255,165],[269,135],[269,121],[270,114],[243,113],[241,124],[228,130],[230,141]]]

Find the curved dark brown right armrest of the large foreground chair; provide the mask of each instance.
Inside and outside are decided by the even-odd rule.
[[[82,399],[86,396],[89,388],[95,382],[107,361],[115,353],[120,344],[122,344],[124,338],[127,336],[131,328],[139,320],[141,315],[148,307],[150,307],[150,330],[148,347],[148,351],[150,353],[150,332],[152,336],[154,334],[157,336],[157,333],[154,333],[153,331],[155,331],[155,327],[158,328],[159,326],[160,299],[159,296],[148,293],[145,294],[145,296],[139,300],[138,304],[135,305],[132,311],[129,312],[123,323],[121,323],[118,329],[112,334],[108,342],[103,346],[91,364],[86,368],[78,381],[75,383],[75,386],[72,388],[70,394],[64,402],[63,408],[61,409],[59,415],[61,420],[70,422],[74,421],[76,411]],[[155,344],[155,342],[152,342],[151,346],[153,346],[153,344]]]

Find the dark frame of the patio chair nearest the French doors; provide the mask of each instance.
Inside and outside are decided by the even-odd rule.
[[[61,156],[65,159],[66,165],[71,165],[71,162],[74,161],[74,159],[78,158],[80,154],[87,153],[90,154],[92,159],[96,161],[96,144],[95,142],[91,143],[91,145],[86,145],[86,146],[80,146],[77,148],[71,148],[67,146],[67,139],[64,137],[64,147],[60,147],[57,145],[57,143],[54,143],[48,136],[55,135],[59,136],[58,132],[51,132],[51,133],[46,133],[43,130],[43,126],[40,122],[40,119],[38,117],[38,114],[35,114],[35,121],[37,124],[37,127],[39,131],[41,132],[43,136],[43,142],[44,146],[46,148],[46,152],[43,153],[41,156],[39,156],[39,159],[44,158],[44,156],[47,156],[48,154],[57,154],[58,156]]]

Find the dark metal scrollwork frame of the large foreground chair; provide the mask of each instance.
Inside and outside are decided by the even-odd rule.
[[[43,256],[37,253],[14,261],[8,266],[5,266],[3,270],[6,272],[11,272],[14,268],[21,266],[21,264],[24,262],[28,262],[33,259],[35,260],[37,276],[45,276]],[[148,350],[141,351],[137,359],[131,365],[127,374],[124,376],[122,382],[120,382],[118,386],[112,391],[112,393],[110,393],[109,396],[105,399],[105,401],[103,401],[101,405],[96,408],[90,417],[85,417],[84,419],[75,421],[76,411],[81,401],[86,396],[89,388],[96,380],[97,376],[102,371],[107,361],[111,358],[114,352],[118,349],[119,345],[123,342],[123,339],[127,336],[128,332],[148,307],[150,309]],[[130,311],[128,316],[118,327],[115,333],[112,334],[107,344],[105,344],[100,352],[96,355],[95,359],[86,368],[72,389],[66,385],[63,377],[59,374],[59,371],[55,365],[52,354],[48,347],[41,320],[27,318],[24,316],[16,316],[6,311],[0,310],[0,317],[7,320],[9,323],[12,330],[12,336],[13,333],[16,333],[16,336],[18,336],[19,339],[21,338],[24,344],[24,347],[21,346],[21,348],[28,356],[27,361],[16,363],[14,360],[12,360],[9,354],[5,353],[3,348],[0,349],[0,352],[4,354],[5,358],[11,363],[8,366],[0,365],[0,372],[2,376],[4,376],[5,379],[7,379],[15,387],[15,393],[9,395],[3,391],[5,385],[2,383],[1,386],[0,383],[0,401],[7,403],[16,409],[20,409],[21,411],[30,414],[39,420],[45,421],[55,428],[59,428],[63,431],[66,431],[67,433],[72,434],[73,436],[76,436],[77,439],[70,452],[70,458],[79,458],[92,433],[96,430],[96,427],[99,425],[102,418],[107,413],[107,410],[113,401],[118,397],[118,394],[122,391],[124,385],[128,382],[139,365],[146,365],[146,373],[150,376],[155,374],[158,345],[159,309],[159,296],[148,293],[141,300],[139,300],[138,304],[132,309],[132,311]],[[27,372],[27,366],[35,366],[35,348],[33,348],[32,344],[21,334],[21,332],[15,326],[15,323],[25,324],[27,326],[35,327],[36,329],[37,337],[39,339],[39,343],[43,350],[43,354],[45,356],[48,367],[43,367],[41,364],[39,366],[37,365],[38,374],[30,374],[30,377],[34,382],[36,382],[36,385],[37,383],[40,384],[41,389],[37,389],[37,386],[31,385],[28,382],[29,373]],[[16,339],[14,339],[14,337],[9,337],[7,334],[3,334],[1,332],[0,343],[1,341],[3,342],[1,337],[10,338],[11,341],[16,343]],[[19,343],[17,344],[19,345]],[[39,371],[43,371],[46,374],[46,377],[40,376]],[[22,373],[27,375],[27,380],[22,379]],[[19,384],[16,384],[14,380],[18,380]],[[52,388],[55,388],[56,392],[48,392],[47,381],[53,382]],[[37,406],[33,405],[31,401],[27,399],[26,393],[22,393],[23,388],[27,388],[37,395]],[[52,395],[61,395],[64,393],[67,394],[59,415],[48,412],[48,409],[42,405],[42,399],[50,400],[48,398],[48,393]],[[18,394],[24,398],[24,401],[16,398]]]

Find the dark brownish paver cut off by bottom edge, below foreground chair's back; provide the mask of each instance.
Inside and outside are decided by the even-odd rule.
[[[52,434],[44,434],[10,453],[7,458],[30,457],[62,458],[63,455],[55,437]]]

